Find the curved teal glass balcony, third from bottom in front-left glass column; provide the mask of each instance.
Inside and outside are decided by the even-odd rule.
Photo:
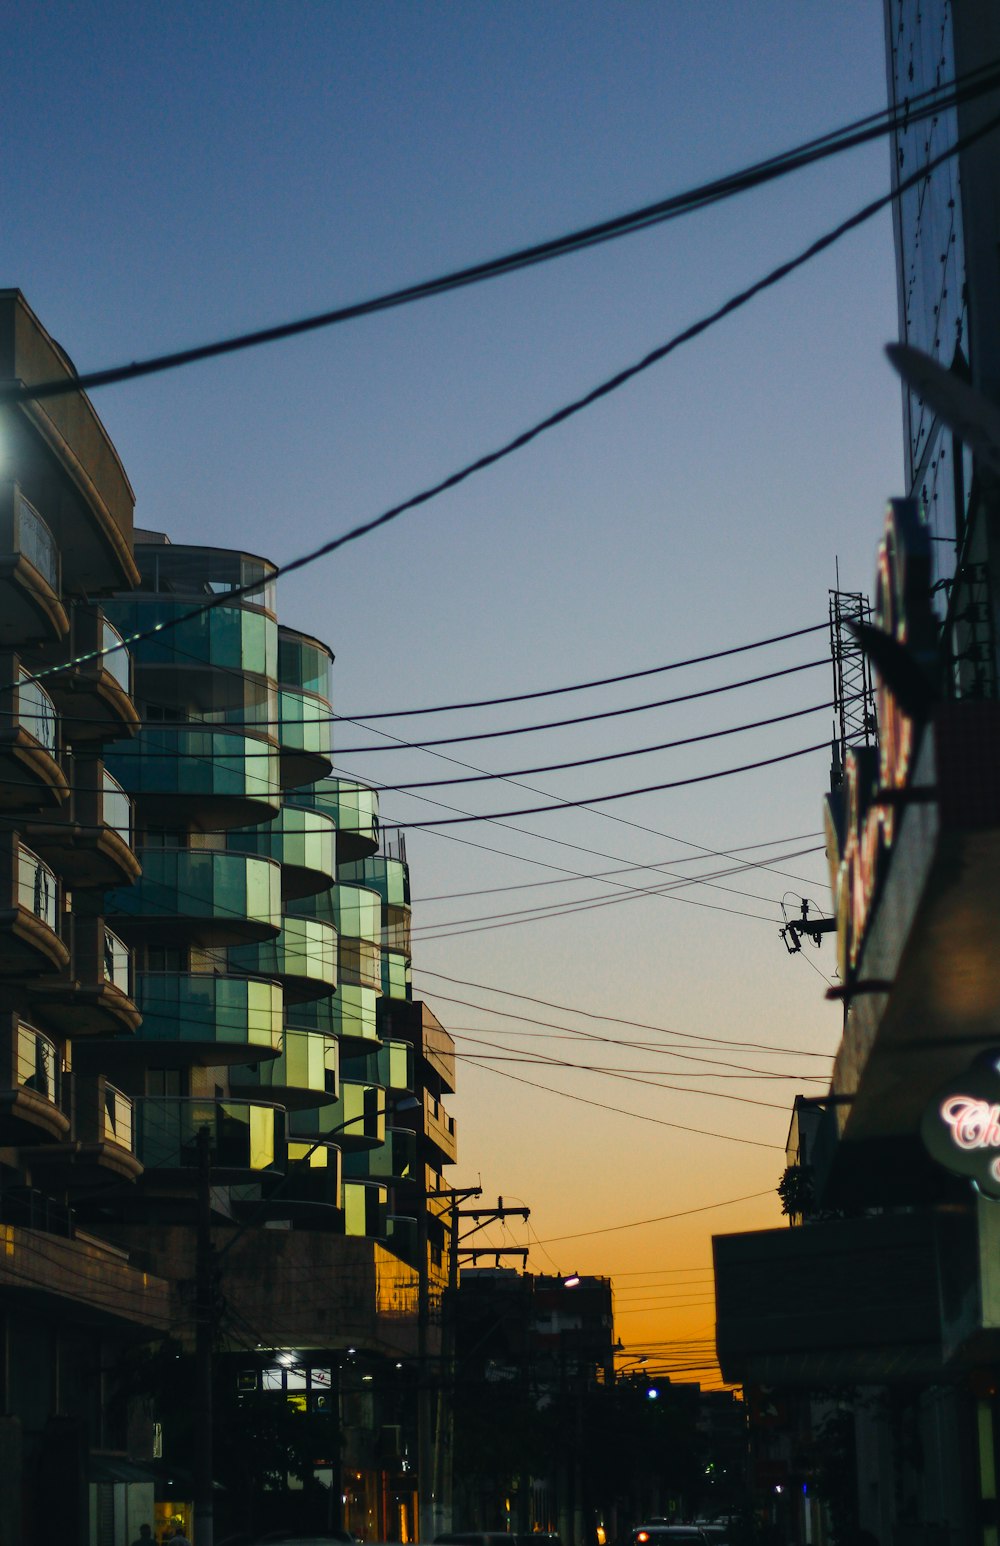
[[[127,940],[250,945],[274,938],[281,877],[272,860],[224,849],[142,849],[142,878],[108,892],[107,914]]]

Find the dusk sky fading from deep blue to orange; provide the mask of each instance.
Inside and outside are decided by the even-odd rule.
[[[6,37],[0,284],[80,371],[485,260],[886,105],[878,0],[49,0]],[[887,186],[875,144],[524,274],[96,391],[136,524],[289,561],[640,359]],[[414,986],[461,1053],[451,1180],[532,1209],[529,1232],[482,1237],[530,1243],[532,1271],[612,1275],[629,1356],[677,1377],[711,1382],[711,1234],[781,1223],[791,1099],[822,1091],[839,1036],[830,942],[790,957],[777,932],[782,900],[830,904],[828,751],[589,810],[414,822],[819,745],[825,635],[374,716],[822,625],[838,574],[870,592],[884,502],[904,492],[895,335],[883,213],[278,592],[281,620],[335,651],[348,776],[518,775],[382,796],[383,822],[410,829]],[[770,680],[649,707],[751,676]],[[496,730],[521,733],[391,739]],[[770,867],[731,873],[751,860]]]

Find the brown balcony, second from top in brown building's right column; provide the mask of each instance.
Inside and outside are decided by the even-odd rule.
[[[73,890],[131,886],[139,878],[131,801],[99,758],[74,758],[70,802],[45,819],[26,818],[22,832]]]

